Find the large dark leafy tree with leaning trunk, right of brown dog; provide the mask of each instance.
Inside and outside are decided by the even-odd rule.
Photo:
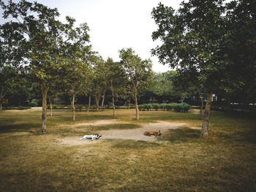
[[[241,56],[239,49],[236,48],[236,41],[232,39],[238,38],[241,33],[250,34],[249,37],[244,37],[250,43],[246,45],[244,40],[239,40],[238,43],[248,50],[255,46],[252,41],[255,39],[254,32],[250,33],[241,28],[236,30],[239,25],[248,28],[255,23],[255,15],[251,8],[254,4],[252,1],[232,1],[230,4],[225,4],[223,0],[190,0],[183,1],[177,11],[161,3],[152,11],[152,18],[158,26],[157,31],[152,34],[152,39],[162,41],[162,45],[155,47],[152,54],[157,55],[162,64],[169,64],[177,69],[179,74],[190,73],[187,77],[192,78],[187,80],[197,83],[203,87],[204,93],[208,93],[201,131],[203,137],[208,136],[211,95],[227,88],[230,84],[239,87],[239,84],[244,84],[247,78],[245,74],[238,74],[240,64],[246,65],[243,67],[245,71],[253,68],[250,66],[255,66],[255,58],[249,56],[252,53],[248,55],[243,50]],[[239,9],[244,8],[247,9],[244,13],[239,12]],[[236,49],[233,53],[240,55],[236,62],[233,61],[236,58],[232,56],[233,53],[227,51],[230,42],[231,47]],[[252,46],[248,46],[250,44]],[[249,59],[243,61],[244,55],[248,55],[250,61]],[[195,74],[196,79],[194,79]],[[237,80],[236,77],[241,77],[242,80]]]

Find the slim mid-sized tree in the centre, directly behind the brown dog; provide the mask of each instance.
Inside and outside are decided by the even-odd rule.
[[[149,59],[141,60],[132,48],[119,50],[119,58],[127,77],[129,94],[135,101],[136,119],[139,120],[138,93],[145,91],[152,83],[152,64]]]

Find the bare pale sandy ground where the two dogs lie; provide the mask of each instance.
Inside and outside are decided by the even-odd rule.
[[[98,126],[99,123],[101,124],[116,123],[116,120],[98,120],[94,123],[80,123],[80,125],[83,124],[83,126],[85,125]],[[76,126],[78,126],[78,124],[76,124]],[[140,126],[141,126],[140,128],[132,128],[132,129],[113,129],[113,130],[99,131],[99,135],[102,135],[102,137],[92,142],[90,142],[87,139],[78,140],[80,137],[64,137],[58,140],[63,145],[92,145],[97,142],[102,142],[105,139],[132,139],[132,140],[156,142],[157,137],[145,136],[143,135],[144,131],[160,130],[162,134],[166,134],[169,129],[182,128],[185,126],[188,128],[200,129],[200,127],[191,127],[187,125],[187,123],[174,123],[174,122],[170,123],[162,120],[157,121],[157,123],[143,123],[143,124],[140,124]]]

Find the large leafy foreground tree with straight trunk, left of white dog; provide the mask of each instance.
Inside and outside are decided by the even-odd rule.
[[[62,34],[66,26],[57,20],[57,9],[50,9],[37,2],[23,0],[17,4],[12,1],[4,4],[1,1],[1,8],[4,10],[3,18],[10,18],[10,21],[1,25],[1,38],[5,39],[4,46],[10,50],[5,62],[26,66],[31,71],[33,82],[40,86],[42,132],[46,133],[47,93],[50,85],[61,74],[63,57],[59,47],[62,45]]]

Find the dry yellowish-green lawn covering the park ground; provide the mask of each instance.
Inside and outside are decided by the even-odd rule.
[[[116,113],[77,112],[75,123],[120,122],[81,128],[69,110],[53,110],[48,134],[41,134],[40,111],[1,111],[0,191],[255,191],[255,115],[211,112],[207,139],[184,127],[162,134],[159,142],[109,139],[68,146],[57,140],[154,120],[201,124],[192,112],[142,111],[139,121],[135,110]]]

